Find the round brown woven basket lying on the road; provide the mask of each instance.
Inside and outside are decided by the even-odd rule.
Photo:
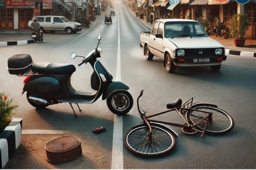
[[[70,136],[46,143],[45,150],[46,160],[50,163],[65,163],[82,155],[81,141]]]

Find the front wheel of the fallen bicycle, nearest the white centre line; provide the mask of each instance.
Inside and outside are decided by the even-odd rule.
[[[174,135],[160,125],[151,125],[152,133],[146,125],[141,124],[125,135],[125,147],[135,155],[154,157],[171,151],[176,140]]]

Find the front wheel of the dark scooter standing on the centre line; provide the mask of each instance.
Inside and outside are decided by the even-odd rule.
[[[107,105],[114,114],[125,115],[132,109],[133,98],[128,91],[115,91],[107,98]]]

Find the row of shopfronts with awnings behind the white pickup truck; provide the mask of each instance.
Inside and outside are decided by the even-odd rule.
[[[138,0],[130,3],[135,6],[135,11],[146,11],[146,16],[153,12],[154,19],[205,19],[213,27],[217,25],[215,17],[228,26],[234,14],[244,12],[251,21],[245,38],[256,39],[256,0],[250,0],[244,5],[235,0]]]

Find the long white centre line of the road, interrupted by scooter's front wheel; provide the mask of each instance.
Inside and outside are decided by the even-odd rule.
[[[121,81],[120,25],[118,13],[118,47],[116,63],[116,80]],[[114,116],[112,164],[111,169],[123,169],[123,116]]]

